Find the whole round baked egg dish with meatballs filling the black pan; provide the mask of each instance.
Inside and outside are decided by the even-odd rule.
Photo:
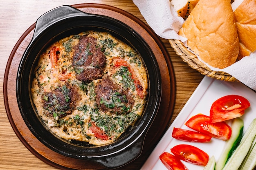
[[[54,134],[102,145],[141,116],[147,88],[146,68],[134,49],[109,33],[86,31],[40,54],[31,94]]]

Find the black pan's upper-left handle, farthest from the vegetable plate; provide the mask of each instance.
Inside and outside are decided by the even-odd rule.
[[[57,8],[52,9],[51,11],[48,11],[47,13],[41,15],[36,20],[36,26],[34,30],[34,35],[32,40],[34,40],[40,33],[42,33],[45,29],[47,29],[48,26],[59,22],[61,20],[65,20],[66,18],[73,17],[75,15],[91,15],[88,13],[85,13],[83,11],[80,11],[74,7],[71,7],[69,5],[63,5]]]

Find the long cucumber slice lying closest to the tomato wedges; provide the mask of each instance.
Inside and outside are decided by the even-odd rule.
[[[222,154],[216,163],[216,170],[222,170],[229,157],[231,157],[232,153],[239,145],[243,136],[244,121],[240,118],[234,119],[231,124],[231,129],[232,135],[230,139],[227,140],[224,150],[222,151]]]

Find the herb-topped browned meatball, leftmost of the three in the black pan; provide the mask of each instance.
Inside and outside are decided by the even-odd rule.
[[[78,87],[68,84],[42,95],[43,108],[48,111],[47,115],[53,117],[64,117],[71,114],[80,99]]]

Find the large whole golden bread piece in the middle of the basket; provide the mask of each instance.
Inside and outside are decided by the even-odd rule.
[[[239,40],[230,0],[200,0],[179,35],[210,66],[225,68],[236,62]]]

